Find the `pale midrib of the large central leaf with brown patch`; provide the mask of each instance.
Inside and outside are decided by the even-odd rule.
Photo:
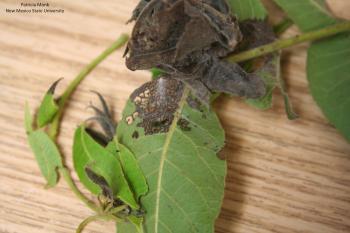
[[[184,108],[184,105],[186,103],[186,99],[189,95],[189,88],[185,86],[183,90],[183,94],[181,97],[181,100],[179,102],[179,106],[174,113],[174,119],[173,122],[170,125],[169,131],[165,137],[165,142],[162,150],[162,155],[160,157],[160,165],[159,165],[159,171],[158,171],[158,180],[157,180],[157,189],[156,189],[156,205],[155,205],[155,217],[154,217],[154,232],[158,233],[158,223],[159,223],[159,201],[160,201],[160,193],[161,193],[161,187],[162,187],[162,177],[163,177],[163,169],[164,169],[164,163],[166,161],[166,157],[168,155],[169,145],[171,143],[171,139],[174,135],[175,129],[177,127],[177,122],[180,119],[182,109]]]

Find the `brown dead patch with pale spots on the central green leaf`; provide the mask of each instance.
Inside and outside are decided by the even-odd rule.
[[[174,79],[160,77],[136,89],[130,98],[136,106],[145,134],[168,132],[183,94],[184,85]],[[133,121],[132,116],[129,119]]]

